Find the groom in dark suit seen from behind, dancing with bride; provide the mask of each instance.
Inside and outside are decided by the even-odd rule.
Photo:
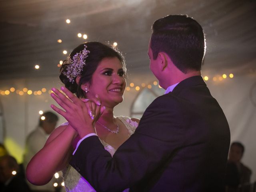
[[[230,130],[201,77],[202,27],[170,15],[152,30],[150,69],[166,94],[148,106],[113,158],[97,136],[80,135],[70,164],[98,192],[222,192]]]

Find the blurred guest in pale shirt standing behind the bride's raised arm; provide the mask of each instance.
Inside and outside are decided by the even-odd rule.
[[[33,130],[26,139],[26,149],[24,153],[24,169],[28,165],[30,159],[43,148],[46,140],[48,139],[51,132],[56,127],[58,122],[58,116],[52,112],[45,112],[39,118],[38,127]],[[54,179],[52,179],[48,184],[43,186],[35,186],[28,182],[30,189],[34,192],[53,192],[54,186]]]

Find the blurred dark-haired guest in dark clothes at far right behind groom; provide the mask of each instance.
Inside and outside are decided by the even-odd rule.
[[[226,185],[228,191],[236,191],[239,186],[250,184],[252,171],[242,164],[244,145],[241,142],[232,142],[228,154]]]

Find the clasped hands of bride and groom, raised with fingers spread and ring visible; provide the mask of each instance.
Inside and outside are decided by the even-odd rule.
[[[51,104],[51,108],[69,122],[72,128],[78,132],[80,138],[95,133],[95,123],[105,110],[99,96],[96,95],[90,100],[79,99],[64,86],[60,89],[67,97],[56,88],[52,88],[51,96],[64,110],[54,104]]]

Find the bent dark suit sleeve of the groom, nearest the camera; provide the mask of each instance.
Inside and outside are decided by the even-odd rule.
[[[150,176],[184,141],[180,104],[170,96],[154,100],[134,134],[113,158],[97,136],[83,140],[70,164],[96,191],[122,191]]]

